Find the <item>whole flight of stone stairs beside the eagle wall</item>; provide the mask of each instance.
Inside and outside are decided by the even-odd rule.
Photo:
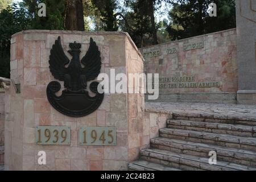
[[[256,170],[256,122],[173,114],[131,170]],[[209,151],[217,164],[210,165]]]

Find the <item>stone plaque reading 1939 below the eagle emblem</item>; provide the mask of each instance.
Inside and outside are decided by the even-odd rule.
[[[69,126],[36,126],[36,144],[69,145]]]

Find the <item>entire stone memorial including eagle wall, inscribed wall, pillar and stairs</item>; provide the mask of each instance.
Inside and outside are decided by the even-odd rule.
[[[14,34],[0,170],[255,170],[256,1],[236,11],[237,28],[139,51],[125,32]],[[159,73],[156,101],[166,102],[145,109],[144,93],[100,92],[100,73],[120,80],[113,70]]]

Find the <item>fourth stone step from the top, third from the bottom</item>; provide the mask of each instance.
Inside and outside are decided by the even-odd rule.
[[[216,151],[217,160],[256,167],[256,152],[237,148],[220,147],[213,144],[186,142],[170,138],[152,138],[150,146],[159,150],[209,158],[209,151]]]

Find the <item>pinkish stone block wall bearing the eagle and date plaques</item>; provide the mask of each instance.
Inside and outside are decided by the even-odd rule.
[[[53,109],[46,97],[46,86],[54,80],[49,72],[52,44],[61,37],[67,54],[68,43],[82,43],[81,55],[92,37],[101,51],[102,73],[143,72],[143,57],[129,35],[123,32],[80,32],[30,30],[11,39],[11,78],[20,83],[21,93],[11,85],[6,93],[5,169],[23,170],[112,170],[127,169],[146,147],[142,132],[143,94],[105,94],[98,110],[81,118],[67,117]],[[69,55],[68,55],[69,56]],[[70,57],[69,57],[70,58]],[[134,64],[137,65],[134,68]],[[70,146],[35,144],[38,125],[71,126]],[[81,126],[114,126],[116,146],[80,146]],[[39,165],[38,151],[46,151],[47,164]]]

